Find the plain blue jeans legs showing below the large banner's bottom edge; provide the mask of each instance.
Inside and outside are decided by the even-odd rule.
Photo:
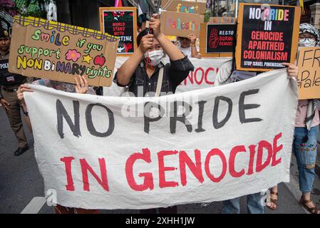
[[[249,214],[263,214],[262,197],[264,195],[254,193],[247,195],[247,210]],[[224,200],[222,214],[239,214],[240,213],[240,197]]]

